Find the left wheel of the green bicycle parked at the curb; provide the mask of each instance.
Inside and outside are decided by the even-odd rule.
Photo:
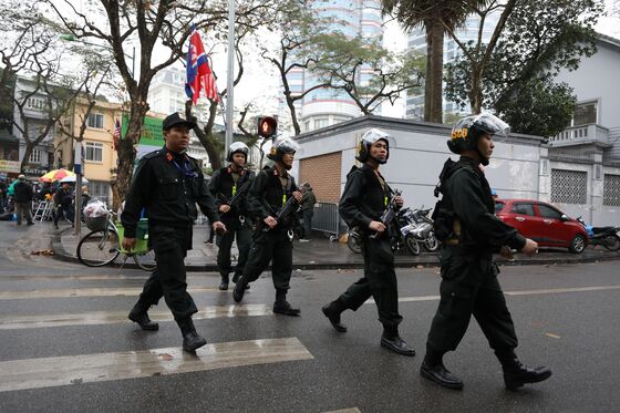
[[[118,235],[110,228],[89,233],[78,244],[78,259],[87,267],[103,267],[118,254]]]

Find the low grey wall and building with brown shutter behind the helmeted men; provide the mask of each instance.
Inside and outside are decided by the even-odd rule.
[[[407,206],[433,207],[433,189],[445,161],[458,157],[447,148],[447,125],[364,116],[301,134],[297,137],[301,154],[293,165],[299,182],[310,182],[319,202],[337,203],[347,175],[356,164],[356,145],[372,127],[390,133],[396,141],[388,164],[381,168],[388,183],[403,190]],[[559,159],[542,137],[510,134],[496,144],[486,171],[490,186],[502,198],[549,202],[569,216],[581,215],[597,226],[617,224],[620,167],[603,164],[602,157],[593,161],[599,162],[598,169],[585,162]],[[567,177],[561,171],[577,177]]]

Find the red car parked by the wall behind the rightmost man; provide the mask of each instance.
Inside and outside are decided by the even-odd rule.
[[[495,214],[540,247],[564,247],[580,254],[588,245],[588,234],[581,224],[547,203],[495,199]]]

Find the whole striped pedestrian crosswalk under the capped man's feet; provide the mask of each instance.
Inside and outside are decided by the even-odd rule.
[[[130,328],[136,337],[142,333],[127,320],[127,312],[142,291],[142,287],[137,285],[142,285],[146,279],[143,272],[128,271],[128,275],[118,275],[114,269],[85,269],[83,272],[64,273],[51,269],[49,273],[33,272],[35,273],[4,270],[0,273],[0,304],[2,309],[11,309],[0,313],[0,340],[11,337],[8,334],[20,332],[27,337],[35,335],[59,347],[48,348],[42,353],[25,351],[24,353],[31,357],[25,359],[14,357],[22,354],[19,350],[9,355],[0,353],[0,393],[313,359],[298,338],[286,335],[286,332],[281,334],[283,337],[269,337],[272,335],[269,331],[265,332],[264,338],[260,333],[252,334],[254,337],[244,337],[241,333],[238,334],[238,341],[210,342],[198,349],[195,354],[182,350],[180,333],[177,337],[178,347],[144,349],[144,341],[137,340],[134,348],[134,340],[125,340],[126,332],[121,332],[121,329]],[[234,304],[229,299],[230,291],[220,291],[217,287],[209,286],[210,280],[204,276],[193,275],[188,280],[193,286],[188,291],[197,302],[209,303],[198,307],[198,312],[193,317],[195,321],[273,316],[271,303]],[[68,286],[71,288],[62,288]],[[118,308],[117,300],[106,304],[107,298],[117,298],[123,302],[122,307]],[[99,300],[99,306],[103,303],[105,309],[84,311],[91,300]],[[44,311],[48,308],[50,310]],[[163,301],[162,306],[151,309],[149,317],[158,322],[174,322]],[[122,347],[120,351],[95,350],[89,353],[89,349],[101,349],[93,343],[92,347],[79,345],[86,351],[66,355],[62,343],[63,340],[71,339],[70,335],[63,338],[63,330],[58,330],[59,328],[73,328],[70,330],[71,334],[79,335],[83,330],[86,338],[94,338],[97,333],[93,328],[104,324],[118,326],[118,343]],[[176,326],[174,330],[176,331]],[[161,342],[169,340],[166,334],[164,331],[161,334],[149,334],[149,338],[153,342]],[[112,348],[117,348],[118,343]],[[13,343],[12,348],[19,349],[19,345]]]

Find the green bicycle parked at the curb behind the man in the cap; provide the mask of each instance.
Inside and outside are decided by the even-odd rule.
[[[157,264],[155,262],[155,252],[147,247],[145,239],[146,219],[141,219],[138,224],[138,231],[142,229],[143,234],[138,234],[138,242],[135,250],[125,251],[121,247],[123,231],[118,230],[121,226],[114,224],[114,217],[115,214],[108,211],[102,228],[89,226],[90,229],[94,228],[94,230],[86,234],[78,244],[78,259],[80,262],[86,267],[103,267],[113,262],[123,254],[123,265],[125,265],[128,257],[132,257],[138,268],[145,271],[154,271],[157,268]]]

